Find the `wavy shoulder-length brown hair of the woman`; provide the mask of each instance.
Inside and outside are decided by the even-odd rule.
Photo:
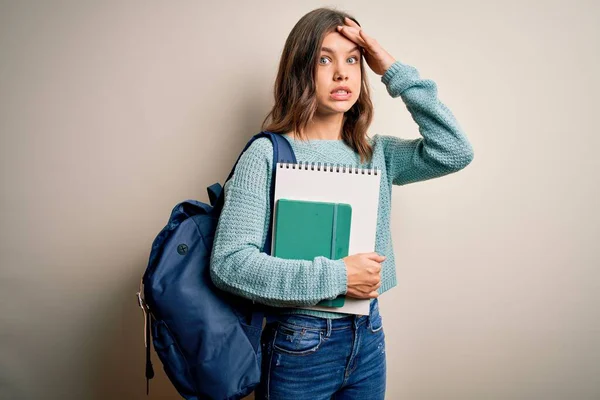
[[[344,25],[349,14],[332,8],[317,8],[304,15],[290,32],[279,62],[274,86],[275,105],[263,120],[261,129],[273,133],[293,131],[301,138],[317,110],[315,67],[325,36]],[[358,100],[344,113],[342,139],[360,155],[361,162],[371,161],[373,149],[367,140],[367,128],[373,119],[373,103],[364,57],[360,57],[361,90]],[[267,120],[271,121],[267,124]]]

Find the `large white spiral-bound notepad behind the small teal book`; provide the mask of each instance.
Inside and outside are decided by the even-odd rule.
[[[349,255],[375,251],[381,171],[338,164],[277,163],[274,215],[278,200],[344,203],[352,208]],[[273,230],[276,229],[273,218]],[[273,235],[272,248],[275,244]],[[370,299],[346,297],[342,307],[302,307],[344,314],[368,315]]]

